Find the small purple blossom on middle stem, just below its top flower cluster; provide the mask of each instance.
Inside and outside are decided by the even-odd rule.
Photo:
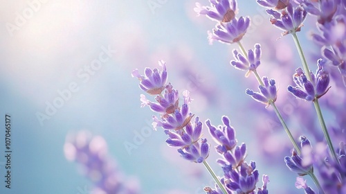
[[[235,67],[235,69],[248,70],[246,73],[246,77],[248,77],[249,73],[255,71],[261,64],[261,45],[255,44],[255,49],[248,50],[248,55],[246,57],[234,49],[233,56],[235,60],[231,60],[230,64]]]

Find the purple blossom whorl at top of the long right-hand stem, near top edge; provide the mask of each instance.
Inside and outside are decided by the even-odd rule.
[[[297,6],[293,9],[291,3],[281,13],[272,9],[266,10],[266,12],[271,15],[271,24],[284,30],[282,36],[299,32],[303,26],[302,22],[307,17],[307,11],[302,6]]]

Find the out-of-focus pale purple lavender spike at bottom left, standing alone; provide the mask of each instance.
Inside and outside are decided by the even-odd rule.
[[[116,163],[107,153],[107,143],[101,136],[80,131],[66,136],[64,144],[66,159],[82,165],[84,174],[95,184],[91,193],[139,193],[135,180],[125,181]]]

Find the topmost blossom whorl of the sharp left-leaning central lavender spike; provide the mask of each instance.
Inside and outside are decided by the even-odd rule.
[[[162,71],[159,71],[156,68],[153,70],[150,68],[145,68],[145,76],[141,76],[138,73],[138,69],[132,71],[132,77],[136,77],[138,80],[140,80],[140,89],[143,89],[143,91],[146,91],[147,94],[150,95],[161,94],[166,87],[167,71],[165,62],[161,60],[158,62],[158,64],[162,67]]]

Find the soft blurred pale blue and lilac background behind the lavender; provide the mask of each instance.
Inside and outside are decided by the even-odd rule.
[[[138,180],[141,193],[203,193],[203,186],[213,186],[201,164],[181,159],[165,144],[163,130],[148,130],[152,112],[140,108],[143,92],[131,71],[158,67],[158,60],[167,62],[168,80],[176,89],[190,90],[191,110],[202,121],[210,118],[218,125],[222,115],[230,117],[239,143],[248,145],[247,160],[257,162],[260,175],[269,175],[271,193],[299,193],[296,175],[284,165],[283,157],[290,155],[289,139],[272,109],[246,96],[245,89],[255,89],[257,83],[230,66],[237,45],[208,43],[207,30],[215,22],[197,17],[194,3],[1,0],[0,193],[89,193],[92,182],[64,156],[66,135],[79,130],[104,137],[109,155],[126,177]],[[262,44],[258,71],[277,80],[277,104],[293,134],[308,132],[302,126],[314,125],[313,107],[286,92],[300,65],[293,40],[280,38],[280,30],[271,26],[255,1],[238,1],[238,8],[239,15],[253,18],[243,44],[246,49]],[[309,30],[316,29],[313,19],[307,19],[299,36],[315,69],[320,48],[308,38]],[[88,70],[104,50],[110,51],[104,55],[107,60]],[[71,95],[57,102],[71,85],[75,88]],[[338,95],[345,98],[345,93]],[[39,118],[54,102],[60,107]],[[305,124],[296,118],[300,107],[312,112],[304,114],[312,117]],[[12,118],[11,189],[4,183],[5,114]],[[327,123],[336,119],[332,114],[327,117]],[[144,141],[126,149],[143,131],[149,132]],[[221,175],[217,158],[212,149],[208,162]],[[309,178],[308,183],[313,185]]]

